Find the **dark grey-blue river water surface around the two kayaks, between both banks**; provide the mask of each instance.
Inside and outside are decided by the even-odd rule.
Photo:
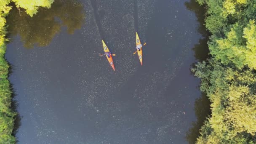
[[[190,72],[208,52],[195,1],[55,1],[33,18],[8,17],[19,143],[193,143],[209,105]],[[98,56],[101,39],[116,71]]]

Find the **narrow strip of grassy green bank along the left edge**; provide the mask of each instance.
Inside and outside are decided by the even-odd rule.
[[[6,9],[5,9],[6,10]],[[5,60],[6,51],[6,21],[5,16],[8,12],[0,14],[0,143],[13,144],[16,142],[13,136],[14,120],[16,112],[11,109],[12,91],[8,80],[8,69],[10,66]]]

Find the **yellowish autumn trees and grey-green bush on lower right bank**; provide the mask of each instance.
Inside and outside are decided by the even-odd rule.
[[[222,65],[214,58],[198,63],[192,71],[201,78],[200,89],[207,93],[212,109],[212,117],[201,129],[197,143],[255,143],[255,71]]]

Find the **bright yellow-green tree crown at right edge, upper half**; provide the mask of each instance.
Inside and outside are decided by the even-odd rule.
[[[249,21],[246,27],[240,23],[230,26],[230,30],[224,31],[225,37],[213,35],[209,42],[211,54],[223,64],[232,62],[238,68],[248,65],[256,68],[256,31],[254,20]]]

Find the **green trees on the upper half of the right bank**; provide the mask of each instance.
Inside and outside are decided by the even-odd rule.
[[[207,7],[205,25],[213,34],[211,55],[223,64],[256,68],[256,0],[198,0]]]

